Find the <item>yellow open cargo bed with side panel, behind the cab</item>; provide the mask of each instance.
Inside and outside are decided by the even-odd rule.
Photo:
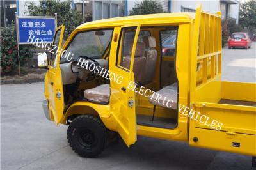
[[[208,92],[207,92],[208,91]],[[256,84],[246,82],[209,81],[196,88],[198,100],[193,108],[223,123],[221,130],[214,130],[207,123],[193,121],[191,132],[200,143],[190,143],[235,153],[256,155]],[[209,95],[211,99],[209,99]],[[215,101],[214,101],[215,100]],[[207,139],[211,136],[212,140]],[[217,139],[214,139],[218,137]]]

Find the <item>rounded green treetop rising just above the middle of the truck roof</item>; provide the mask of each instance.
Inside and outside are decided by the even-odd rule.
[[[161,4],[157,1],[147,1],[143,0],[141,3],[135,3],[132,10],[130,10],[130,15],[144,15],[151,13],[164,13]]]

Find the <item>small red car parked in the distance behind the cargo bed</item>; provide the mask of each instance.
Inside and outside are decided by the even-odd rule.
[[[244,49],[250,49],[251,40],[247,33],[232,33],[230,38],[228,38],[228,49],[234,47],[244,47]]]

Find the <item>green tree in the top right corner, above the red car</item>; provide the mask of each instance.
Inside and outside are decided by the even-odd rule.
[[[239,22],[244,29],[256,28],[256,1],[248,0],[241,4]]]

